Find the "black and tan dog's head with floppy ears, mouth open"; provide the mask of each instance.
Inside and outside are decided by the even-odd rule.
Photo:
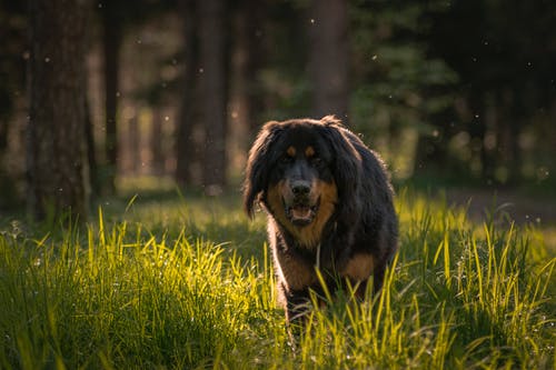
[[[322,226],[355,194],[360,166],[334,117],[268,122],[249,152],[245,209],[252,217],[258,200],[287,229]]]

